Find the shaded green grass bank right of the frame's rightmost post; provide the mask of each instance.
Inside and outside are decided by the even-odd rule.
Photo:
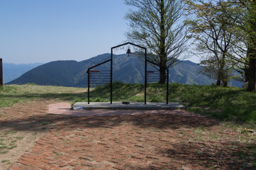
[[[256,124],[256,94],[236,87],[172,84],[170,100],[185,103],[188,111],[221,120]]]

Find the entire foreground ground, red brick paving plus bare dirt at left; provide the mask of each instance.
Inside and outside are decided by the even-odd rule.
[[[255,132],[187,111],[72,117],[50,103],[0,109],[0,169],[252,169]]]

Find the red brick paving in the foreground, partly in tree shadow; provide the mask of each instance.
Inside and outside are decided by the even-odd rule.
[[[238,133],[216,121],[186,111],[133,112],[138,114],[30,116],[54,127],[9,169],[237,169],[245,164],[237,156],[243,145],[231,147]]]

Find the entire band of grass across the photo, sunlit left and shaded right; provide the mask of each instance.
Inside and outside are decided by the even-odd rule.
[[[57,99],[75,103],[87,102],[87,89],[38,86],[33,84],[0,87],[0,108],[12,106],[18,101]],[[110,86],[90,89],[90,101],[110,102]],[[166,84],[150,84],[147,101],[165,102]],[[113,101],[144,101],[144,84],[113,83]],[[186,106],[187,111],[207,115],[220,120],[240,120],[256,125],[256,93],[236,87],[196,86],[169,84],[169,101]],[[4,116],[4,115],[2,115]]]

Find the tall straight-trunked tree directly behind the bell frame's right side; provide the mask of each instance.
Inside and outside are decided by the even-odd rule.
[[[137,11],[128,11],[129,40],[148,47],[148,60],[160,65],[160,83],[165,83],[165,68],[172,67],[186,49],[186,26],[182,22],[184,4],[180,0],[125,0]]]

